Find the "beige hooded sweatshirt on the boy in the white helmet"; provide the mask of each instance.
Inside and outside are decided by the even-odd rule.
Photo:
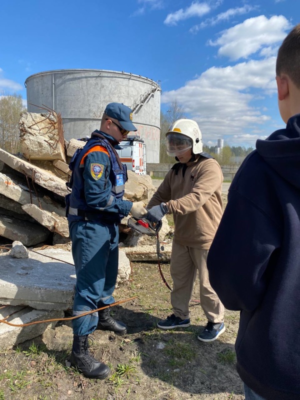
[[[168,171],[147,208],[165,202],[174,217],[174,241],[209,249],[223,213],[222,181],[216,160],[199,155],[195,161],[175,164]]]

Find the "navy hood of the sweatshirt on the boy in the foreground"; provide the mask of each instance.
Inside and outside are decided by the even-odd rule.
[[[278,175],[300,189],[300,114],[290,117],[285,129],[258,139],[256,149]]]

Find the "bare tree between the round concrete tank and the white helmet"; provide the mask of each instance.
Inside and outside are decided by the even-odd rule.
[[[170,157],[166,153],[165,134],[169,127],[177,120],[186,118],[183,107],[175,99],[170,103],[166,112],[160,111],[160,149],[159,162],[172,163],[174,157]]]

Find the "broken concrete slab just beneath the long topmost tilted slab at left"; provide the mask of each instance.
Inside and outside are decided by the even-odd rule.
[[[0,172],[0,194],[2,196],[10,198],[11,200],[16,201],[19,204],[28,204],[28,203],[33,203],[37,206],[41,206],[42,209],[45,209],[46,211],[49,212],[55,212],[56,214],[60,216],[65,215],[65,208],[62,207],[60,204],[58,204],[56,201],[53,201],[50,199],[49,196],[42,196],[42,197],[36,197],[35,194],[29,192],[28,187],[26,187],[24,184],[22,184],[18,179],[11,178],[8,175],[5,175],[4,173]],[[2,198],[2,197],[1,197]],[[7,203],[7,200],[3,203],[1,203],[1,206],[4,207],[5,204]],[[8,204],[6,204],[8,206]],[[11,203],[11,206],[13,204]],[[14,205],[14,208],[16,206]],[[10,208],[8,208],[10,209]],[[20,212],[18,208],[15,209],[15,212]],[[24,212],[21,209],[21,212]]]

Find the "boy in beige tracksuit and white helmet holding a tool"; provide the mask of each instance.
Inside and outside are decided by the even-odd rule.
[[[157,222],[165,213],[174,217],[170,273],[173,314],[157,323],[162,329],[189,326],[189,302],[199,271],[200,302],[208,322],[198,334],[212,341],[225,330],[224,307],[210,286],[206,258],[222,216],[222,172],[202,152],[201,132],[191,119],[179,119],[166,133],[167,153],[179,161],[168,171],[147,205],[146,218]]]

